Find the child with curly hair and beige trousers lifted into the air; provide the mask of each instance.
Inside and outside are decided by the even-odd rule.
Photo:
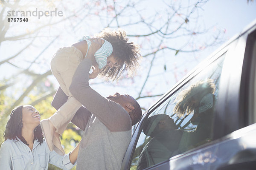
[[[107,79],[115,80],[119,79],[124,71],[135,71],[139,66],[138,45],[128,42],[125,31],[122,29],[112,31],[107,28],[97,34],[96,37],[102,38],[102,47],[94,54],[97,63],[93,63],[95,68],[93,68],[93,73],[90,74],[89,78],[95,78],[99,74]],[[52,74],[69,99],[49,119],[42,120],[41,127],[49,149],[54,149],[60,154],[64,154],[64,150],[61,147],[59,136],[81,107],[81,103],[70,93],[69,87],[76,68],[87,56],[91,49],[90,46],[93,46],[92,41],[94,41],[93,38],[83,37],[80,42],[71,47],[60,48],[52,57]]]

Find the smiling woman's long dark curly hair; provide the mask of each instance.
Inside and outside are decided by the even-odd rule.
[[[4,141],[7,139],[16,140],[17,137],[26,145],[29,145],[26,140],[21,135],[21,130],[23,127],[22,123],[22,108],[20,105],[14,108],[10,114],[10,119],[7,122],[6,129],[3,133]],[[34,140],[37,139],[40,144],[44,141],[41,126],[38,125],[34,130]]]

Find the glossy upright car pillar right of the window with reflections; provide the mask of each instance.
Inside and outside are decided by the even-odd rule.
[[[248,35],[256,30],[256,24],[245,32],[239,34],[233,42],[230,43],[227,58],[224,61],[223,73],[220,80],[219,93],[220,97],[217,101],[215,129],[219,133],[215,133],[214,139],[221,139],[224,136],[239,130],[248,125],[247,113],[248,95],[245,89],[248,83],[245,79],[248,75]],[[233,62],[233,59],[235,62]],[[231,67],[229,66],[231,65]],[[221,139],[221,140],[224,140]]]

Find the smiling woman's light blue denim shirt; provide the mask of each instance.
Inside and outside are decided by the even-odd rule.
[[[70,153],[69,153],[70,154]],[[58,155],[50,151],[46,142],[39,144],[34,141],[33,149],[21,142],[20,139],[7,139],[0,149],[1,170],[47,170],[48,163],[64,170],[71,169],[74,165],[70,162],[69,154]]]

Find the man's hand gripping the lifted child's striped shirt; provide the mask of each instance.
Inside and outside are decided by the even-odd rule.
[[[86,58],[90,59],[90,61],[92,62],[92,65],[98,65],[95,61],[94,54],[96,53],[97,50],[99,50],[99,48],[101,48],[102,44],[104,43],[104,40],[102,40],[101,38],[91,38],[90,41],[92,43],[90,45]]]

